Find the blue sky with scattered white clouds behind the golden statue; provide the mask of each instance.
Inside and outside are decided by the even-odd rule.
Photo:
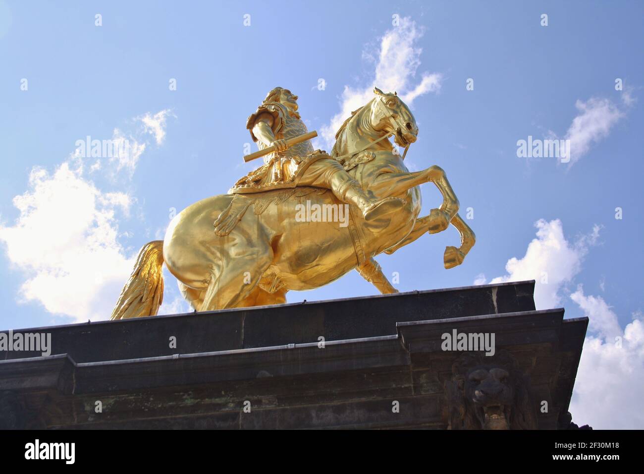
[[[319,132],[374,85],[416,90],[408,166],[446,170],[477,244],[444,270],[457,232],[425,235],[380,256],[384,272],[401,291],[536,279],[539,308],[591,318],[574,419],[614,424],[602,404],[635,403],[619,384],[644,381],[643,14],[636,1],[0,1],[0,327],[106,319],[173,210],[256,166],[245,121],[274,86]],[[88,135],[139,148],[74,157]],[[570,139],[571,163],[518,157],[529,135]],[[423,215],[440,204],[433,185],[422,195]],[[185,310],[166,277],[163,311]],[[289,301],[374,293],[353,272]],[[612,391],[592,381],[602,370],[621,380]]]

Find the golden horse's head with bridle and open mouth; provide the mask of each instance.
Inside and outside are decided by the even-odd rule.
[[[409,110],[396,92],[385,94],[374,88],[376,97],[371,102],[370,121],[375,130],[395,133],[394,141],[398,146],[408,146],[418,137],[418,126],[412,111]]]

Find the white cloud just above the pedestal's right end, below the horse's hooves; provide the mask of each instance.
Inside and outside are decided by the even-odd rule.
[[[594,226],[589,235],[583,235],[573,243],[565,239],[559,219],[550,222],[540,219],[535,226],[536,239],[528,244],[526,255],[520,259],[509,259],[506,264],[508,274],[494,278],[490,283],[536,280],[536,309],[545,310],[560,306],[559,291],[580,272],[583,257],[599,237],[600,226]],[[485,275],[478,275],[474,284],[485,282]]]

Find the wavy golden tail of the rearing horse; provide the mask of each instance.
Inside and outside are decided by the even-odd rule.
[[[155,316],[163,302],[162,266],[163,241],[145,244],[109,319]]]

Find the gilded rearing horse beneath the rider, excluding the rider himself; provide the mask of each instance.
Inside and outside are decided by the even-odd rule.
[[[281,304],[289,290],[312,290],[354,269],[381,293],[396,293],[374,257],[391,254],[424,233],[441,232],[450,223],[460,233],[460,247],[446,248],[444,266],[461,264],[475,235],[459,216],[459,201],[446,173],[439,166],[409,172],[404,155],[388,139],[393,136],[408,147],[417,132],[413,114],[400,97],[375,89],[374,98],[338,130],[330,156],[365,192],[377,199],[402,200],[400,209],[367,220],[357,206],[311,186],[202,199],[176,215],[163,241],[142,248],[111,319],[156,315],[163,299],[164,263],[196,311]],[[428,182],[437,186],[443,201],[419,217],[419,185]],[[220,235],[213,222],[231,209],[233,199],[241,211],[229,219],[232,229]],[[347,225],[337,219],[296,219],[303,208],[329,204],[348,208]]]

